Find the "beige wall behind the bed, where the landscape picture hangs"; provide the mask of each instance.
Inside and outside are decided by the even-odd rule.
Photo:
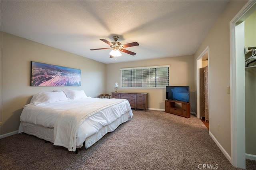
[[[81,69],[80,87],[31,87],[30,61]],[[80,89],[95,97],[106,91],[106,64],[1,32],[1,135],[19,127],[19,117],[40,91]]]

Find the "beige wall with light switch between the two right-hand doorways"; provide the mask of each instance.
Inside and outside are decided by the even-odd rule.
[[[209,46],[209,128],[210,133],[229,155],[231,155],[230,94],[227,93],[227,87],[230,86],[229,23],[246,2],[230,1],[227,4],[194,55],[196,65],[196,59]]]

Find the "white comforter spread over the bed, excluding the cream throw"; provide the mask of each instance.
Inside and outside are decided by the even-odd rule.
[[[65,110],[72,111],[72,109],[74,109],[77,111],[80,107],[90,107],[90,105],[95,105],[96,103],[99,103],[99,101],[107,101],[107,103],[113,101],[113,103],[116,103],[117,100],[122,100],[122,102],[117,105],[113,105],[112,107],[103,107],[100,111],[97,110],[96,113],[88,117],[81,125],[79,125],[76,133],[76,146],[82,146],[82,143],[87,137],[98,132],[103,126],[109,125],[124,113],[129,112],[130,117],[132,117],[133,114],[129,102],[126,99],[85,98],[36,106],[31,103],[24,106],[20,116],[20,121],[54,128],[58,115],[63,113]],[[21,131],[19,130],[19,132]]]

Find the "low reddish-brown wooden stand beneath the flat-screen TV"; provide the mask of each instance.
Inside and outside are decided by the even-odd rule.
[[[181,103],[181,107],[176,107],[175,103]],[[166,100],[165,101],[165,112],[189,118],[190,117],[190,103],[187,103],[185,101]]]

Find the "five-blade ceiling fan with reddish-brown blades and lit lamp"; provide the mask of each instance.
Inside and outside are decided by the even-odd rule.
[[[122,51],[124,53],[128,53],[130,55],[136,55],[136,53],[129,51],[127,49],[124,49],[124,48],[137,46],[137,45],[139,45],[139,43],[132,42],[132,43],[126,43],[126,44],[122,45],[122,43],[118,42],[118,40],[119,40],[118,36],[114,36],[113,39],[115,40],[114,42],[109,42],[108,40],[100,39],[101,41],[110,45],[110,48],[96,48],[96,49],[90,49],[90,50],[112,49],[112,51],[110,52],[110,58],[121,56],[122,54],[120,53],[120,51]]]

